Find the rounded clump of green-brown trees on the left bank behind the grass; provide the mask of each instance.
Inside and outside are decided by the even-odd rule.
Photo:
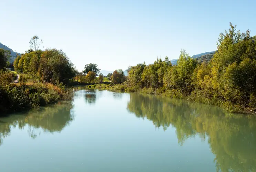
[[[62,50],[57,49],[22,54],[14,62],[14,69],[17,73],[28,74],[42,82],[52,83],[68,83],[76,75],[74,64]]]

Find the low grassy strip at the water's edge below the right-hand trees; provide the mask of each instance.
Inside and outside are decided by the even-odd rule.
[[[250,108],[249,106],[232,104],[230,101],[224,101],[216,97],[207,97],[203,92],[195,90],[191,93],[184,93],[181,90],[167,89],[164,87],[154,89],[154,88],[139,88],[130,86],[129,80],[121,84],[94,84],[89,85],[88,88],[97,88],[103,90],[122,90],[125,92],[137,92],[137,93],[147,93],[147,94],[156,94],[163,95],[171,98],[180,98],[188,101],[193,101],[196,103],[204,103],[209,105],[215,105],[224,108],[227,112],[233,113],[244,113],[244,114],[255,114],[255,109]]]

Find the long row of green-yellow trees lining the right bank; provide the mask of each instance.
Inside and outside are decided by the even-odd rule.
[[[172,65],[168,57],[152,65],[129,69],[128,91],[161,93],[172,97],[225,106],[230,111],[256,107],[256,42],[250,31],[241,33],[230,23],[221,33],[211,61],[199,63],[185,50]]]

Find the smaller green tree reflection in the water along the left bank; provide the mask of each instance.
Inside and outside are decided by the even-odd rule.
[[[60,132],[74,119],[71,101],[61,101],[57,104],[32,110],[25,114],[13,114],[0,118],[0,144],[11,133],[11,128],[18,126],[24,129],[28,126],[28,134],[36,138],[42,132]]]

